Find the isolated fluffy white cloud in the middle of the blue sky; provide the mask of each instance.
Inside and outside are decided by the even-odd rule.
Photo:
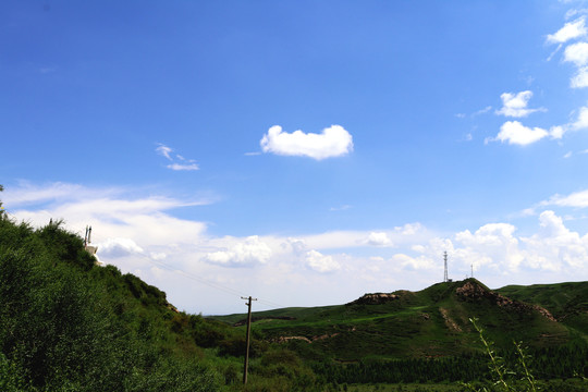
[[[353,150],[352,135],[340,125],[324,128],[320,134],[295,131],[286,133],[274,125],[260,142],[264,152],[283,156],[306,156],[317,160],[344,156]]]

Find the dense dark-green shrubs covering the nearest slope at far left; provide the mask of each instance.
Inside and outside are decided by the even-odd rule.
[[[131,328],[125,321],[140,318],[121,317],[124,302],[113,306],[108,281],[91,270],[82,240],[59,222],[33,230],[0,220],[3,390],[218,389],[210,369],[150,344],[148,326]],[[112,267],[96,272],[120,274]]]

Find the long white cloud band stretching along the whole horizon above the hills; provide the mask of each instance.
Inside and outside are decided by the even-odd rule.
[[[192,313],[241,311],[240,295],[283,306],[318,306],[350,302],[366,292],[420,290],[441,281],[444,250],[450,255],[451,278],[469,273],[474,264],[477,278],[490,286],[581,280],[588,270],[588,235],[567,229],[549,211],[539,217],[538,230],[525,235],[515,225],[499,222],[453,235],[412,223],[296,237],[216,237],[207,234],[205,223],[168,213],[189,205],[186,201],[133,198],[121,189],[72,184],[27,189],[39,191],[49,203],[41,209],[25,205],[27,209],[14,211],[16,219],[40,225],[50,217],[64,218],[68,229],[82,233],[91,224],[102,261],[160,287],[171,303]],[[62,196],[50,199],[48,189],[61,189]],[[66,195],[64,189],[76,189],[82,196]],[[23,189],[7,188],[11,191],[34,198]],[[556,195],[550,203],[588,207],[588,191]],[[366,242],[370,236],[373,243],[388,238],[394,247],[372,247]],[[195,297],[206,301],[195,303]]]

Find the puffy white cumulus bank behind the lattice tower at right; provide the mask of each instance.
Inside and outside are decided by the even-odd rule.
[[[429,238],[412,246],[416,256],[399,253],[390,261],[405,270],[430,270],[440,274],[442,255],[448,252],[450,277],[460,271],[468,273],[471,265],[478,271],[483,270],[487,277],[490,273],[514,277],[530,271],[558,272],[567,280],[586,275],[588,234],[583,236],[571,231],[553,211],[543,211],[539,216],[539,230],[535,234],[519,236],[516,231],[510,223],[489,223],[474,233],[469,230],[457,232],[451,240]]]

